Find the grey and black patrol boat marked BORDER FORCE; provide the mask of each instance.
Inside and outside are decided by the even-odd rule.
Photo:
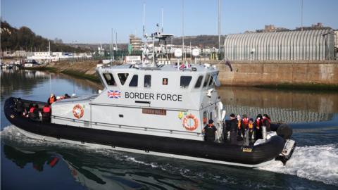
[[[28,137],[45,141],[99,144],[117,151],[244,167],[276,159],[285,163],[294,149],[294,141],[286,135],[289,127],[277,125],[277,133],[270,132],[259,144],[224,140],[225,110],[215,89],[220,85],[218,68],[159,64],[154,39],[170,36],[151,34],[153,46],[145,46],[142,63],[96,68],[104,84],[101,93],[52,103],[50,123],[23,118],[15,111],[13,97],[4,104],[6,118]],[[175,55],[182,56],[182,51]],[[44,105],[22,101],[25,106]],[[202,134],[210,119],[218,129],[214,142],[204,141]]]

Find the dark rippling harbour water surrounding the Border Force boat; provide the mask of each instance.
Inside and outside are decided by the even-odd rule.
[[[51,78],[51,80],[50,80]],[[338,93],[222,87],[229,113],[270,113],[294,128],[286,166],[257,169],[38,141],[4,118],[10,96],[92,94],[101,85],[67,75],[1,72],[1,189],[338,189]]]

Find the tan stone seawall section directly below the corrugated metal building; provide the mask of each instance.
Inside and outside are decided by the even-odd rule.
[[[224,62],[213,62],[220,69],[223,85],[338,85],[338,61],[284,61],[284,62],[231,62],[233,71]]]

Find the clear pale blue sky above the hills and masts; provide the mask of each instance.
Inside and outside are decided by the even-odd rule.
[[[185,36],[218,35],[218,0],[1,0],[1,19],[65,43],[109,43],[112,30],[118,43],[127,43],[129,34],[142,37],[144,4],[148,34],[161,25],[163,8],[165,33],[181,37],[184,20]],[[337,8],[338,0],[303,0],[303,26],[323,23],[337,30]],[[221,34],[270,24],[294,29],[301,26],[301,0],[221,0],[220,20]]]

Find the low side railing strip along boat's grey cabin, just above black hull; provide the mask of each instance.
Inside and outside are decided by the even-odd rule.
[[[139,127],[139,126],[133,126],[133,125],[120,125],[120,124],[111,124],[111,123],[106,123],[106,122],[90,122],[88,120],[77,120],[77,119],[71,119],[71,118],[65,118],[61,116],[56,116],[56,115],[51,115],[51,118],[58,119],[58,120],[66,120],[66,121],[72,121],[72,122],[77,122],[77,123],[83,123],[86,126],[91,125],[100,125],[104,127],[114,127],[114,128],[130,128],[130,129],[137,129],[137,130],[142,130],[142,131],[158,131],[158,132],[167,132],[170,134],[174,133],[183,133],[183,134],[189,134],[192,136],[197,136],[201,137],[203,134],[201,132],[189,132],[189,131],[181,131],[181,130],[173,130],[173,129],[161,129],[161,128],[156,128],[156,127]]]

